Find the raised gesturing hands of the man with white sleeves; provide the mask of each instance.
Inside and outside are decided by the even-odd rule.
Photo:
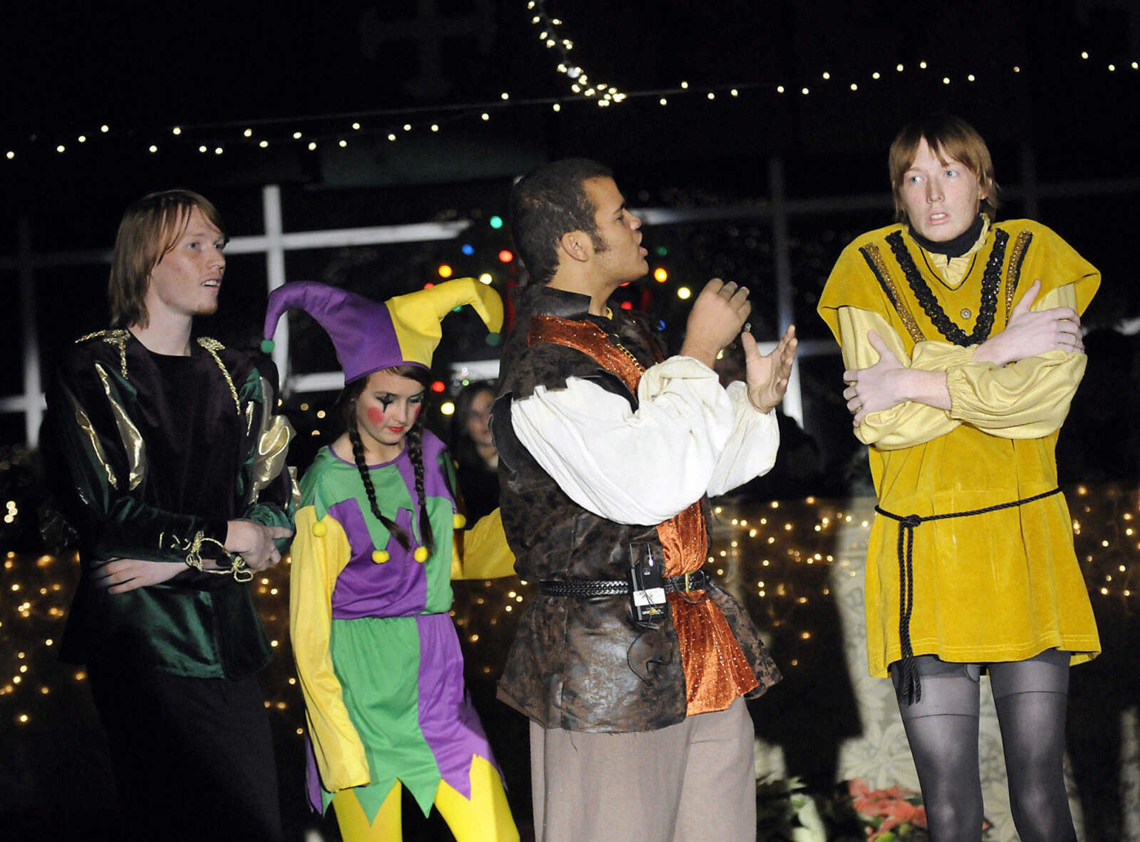
[[[741,333],[751,311],[748,287],[714,278],[701,289],[689,313],[681,354],[712,368],[717,354],[739,335],[744,349],[748,399],[757,411],[768,412],[788,391],[796,361],[796,326],[788,327],[771,353],[762,354],[752,334]]]

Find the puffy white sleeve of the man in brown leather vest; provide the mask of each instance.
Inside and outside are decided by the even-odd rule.
[[[725,391],[712,369],[689,357],[649,368],[637,409],[587,379],[535,389],[511,402],[511,423],[570,499],[618,523],[667,521],[706,492],[723,493],[775,461],[774,412]]]

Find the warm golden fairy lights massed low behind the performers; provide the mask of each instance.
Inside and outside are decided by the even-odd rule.
[[[1077,558],[1094,604],[1110,600],[1130,606],[1140,589],[1135,581],[1140,574],[1135,489],[1122,483],[1077,485],[1067,497]],[[814,641],[824,630],[814,627],[821,614],[813,606],[833,598],[836,575],[855,577],[863,565],[862,557],[844,555],[839,534],[870,529],[873,505],[871,498],[840,504],[807,497],[717,506],[709,572],[726,581],[762,629]],[[16,521],[35,517],[34,507],[24,515],[14,500],[8,510]],[[865,546],[865,541],[852,546]],[[266,706],[285,717],[300,735],[302,704],[288,641],[288,562],[286,557],[261,573],[252,587],[276,652],[262,673]],[[9,727],[52,727],[51,712],[58,708],[47,702],[87,680],[82,668],[62,664],[57,657],[78,578],[74,551],[55,556],[13,550],[0,564],[5,596],[0,599],[0,734]],[[498,675],[516,618],[532,590],[532,585],[515,578],[456,582],[451,615],[464,641],[470,675]],[[819,656],[833,653],[820,652]],[[781,667],[801,664],[792,657]]]

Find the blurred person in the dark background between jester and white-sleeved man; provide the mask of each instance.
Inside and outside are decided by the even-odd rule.
[[[455,400],[451,453],[459,493],[472,520],[498,508],[498,451],[491,435],[494,402],[495,384],[490,381],[467,384]]]

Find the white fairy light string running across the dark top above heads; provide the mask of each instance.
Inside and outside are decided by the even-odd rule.
[[[277,150],[294,148],[316,153],[325,149],[348,148],[365,139],[389,144],[413,136],[437,136],[459,123],[490,122],[505,109],[548,107],[563,112],[571,107],[610,108],[627,100],[644,100],[658,107],[668,107],[681,99],[709,101],[738,100],[750,97],[811,97],[825,91],[842,91],[850,96],[883,84],[890,80],[910,79],[920,74],[937,80],[943,85],[974,85],[1008,81],[1021,75],[1025,68],[1017,64],[991,66],[962,73],[939,70],[934,64],[919,60],[869,67],[860,74],[832,73],[821,68],[801,77],[767,81],[738,81],[731,83],[690,83],[679,80],[667,87],[651,90],[622,91],[617,85],[602,82],[587,72],[578,58],[583,52],[564,34],[564,22],[549,14],[545,0],[528,0],[527,14],[539,41],[555,55],[554,71],[565,76],[568,92],[557,97],[515,97],[510,91],[498,99],[451,104],[445,106],[359,111],[352,113],[300,115],[280,118],[259,118],[225,123],[195,123],[156,126],[97,126],[49,136],[35,132],[24,138],[0,138],[0,164],[18,165],[35,155],[67,156],[97,154],[96,150],[114,145],[144,156],[174,152],[221,157],[238,149]],[[1060,60],[1066,60],[1064,57]],[[1082,50],[1072,56],[1074,65],[1100,67],[1107,75],[1127,74],[1140,81],[1140,60],[1098,56]],[[2,169],[0,169],[2,172]]]

